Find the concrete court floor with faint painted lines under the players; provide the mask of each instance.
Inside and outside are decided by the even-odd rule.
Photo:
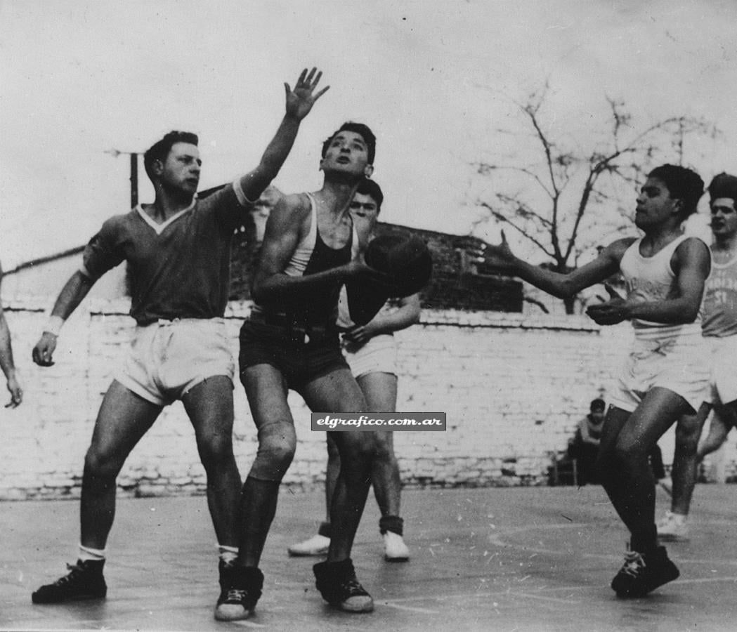
[[[386,563],[369,499],[354,547],[373,614],[332,611],[313,558],[286,548],[315,532],[318,491],[282,490],[245,622],[214,621],[214,535],[203,497],[121,499],[109,544],[108,599],[32,605],[74,560],[78,502],[0,503],[0,629],[165,631],[727,631],[737,629],[737,487],[699,485],[692,536],[670,544],[679,580],[618,600],[624,527],[604,491],[492,488],[405,491],[409,563]],[[658,510],[667,499],[658,498]]]

